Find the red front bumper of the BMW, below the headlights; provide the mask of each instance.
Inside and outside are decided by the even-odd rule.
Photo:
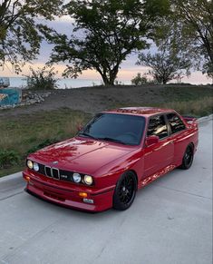
[[[45,176],[35,175],[28,170],[23,172],[23,178],[27,181],[25,191],[64,207],[87,211],[102,211],[112,207],[115,186],[97,190],[85,186],[65,185],[61,181],[46,179]],[[93,203],[83,201],[80,192],[87,193],[86,199],[93,200]]]

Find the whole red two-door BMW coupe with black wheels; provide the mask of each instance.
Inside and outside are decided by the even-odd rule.
[[[197,146],[196,119],[173,110],[101,112],[74,138],[29,155],[26,191],[80,210],[126,210],[143,186],[189,169]]]

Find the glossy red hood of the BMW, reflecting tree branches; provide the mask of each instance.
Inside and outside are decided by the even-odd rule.
[[[29,158],[64,171],[93,174],[133,150],[132,146],[76,137],[34,152]]]

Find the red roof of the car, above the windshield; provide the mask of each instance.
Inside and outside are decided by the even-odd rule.
[[[113,109],[105,112],[113,112],[113,113],[127,113],[133,115],[145,115],[150,116],[153,114],[164,113],[164,112],[174,112],[172,109],[163,109],[158,107],[124,107]]]

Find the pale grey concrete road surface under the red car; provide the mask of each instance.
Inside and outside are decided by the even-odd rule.
[[[0,263],[212,263],[212,121],[199,125],[189,171],[140,190],[130,210],[60,208],[0,181]]]

